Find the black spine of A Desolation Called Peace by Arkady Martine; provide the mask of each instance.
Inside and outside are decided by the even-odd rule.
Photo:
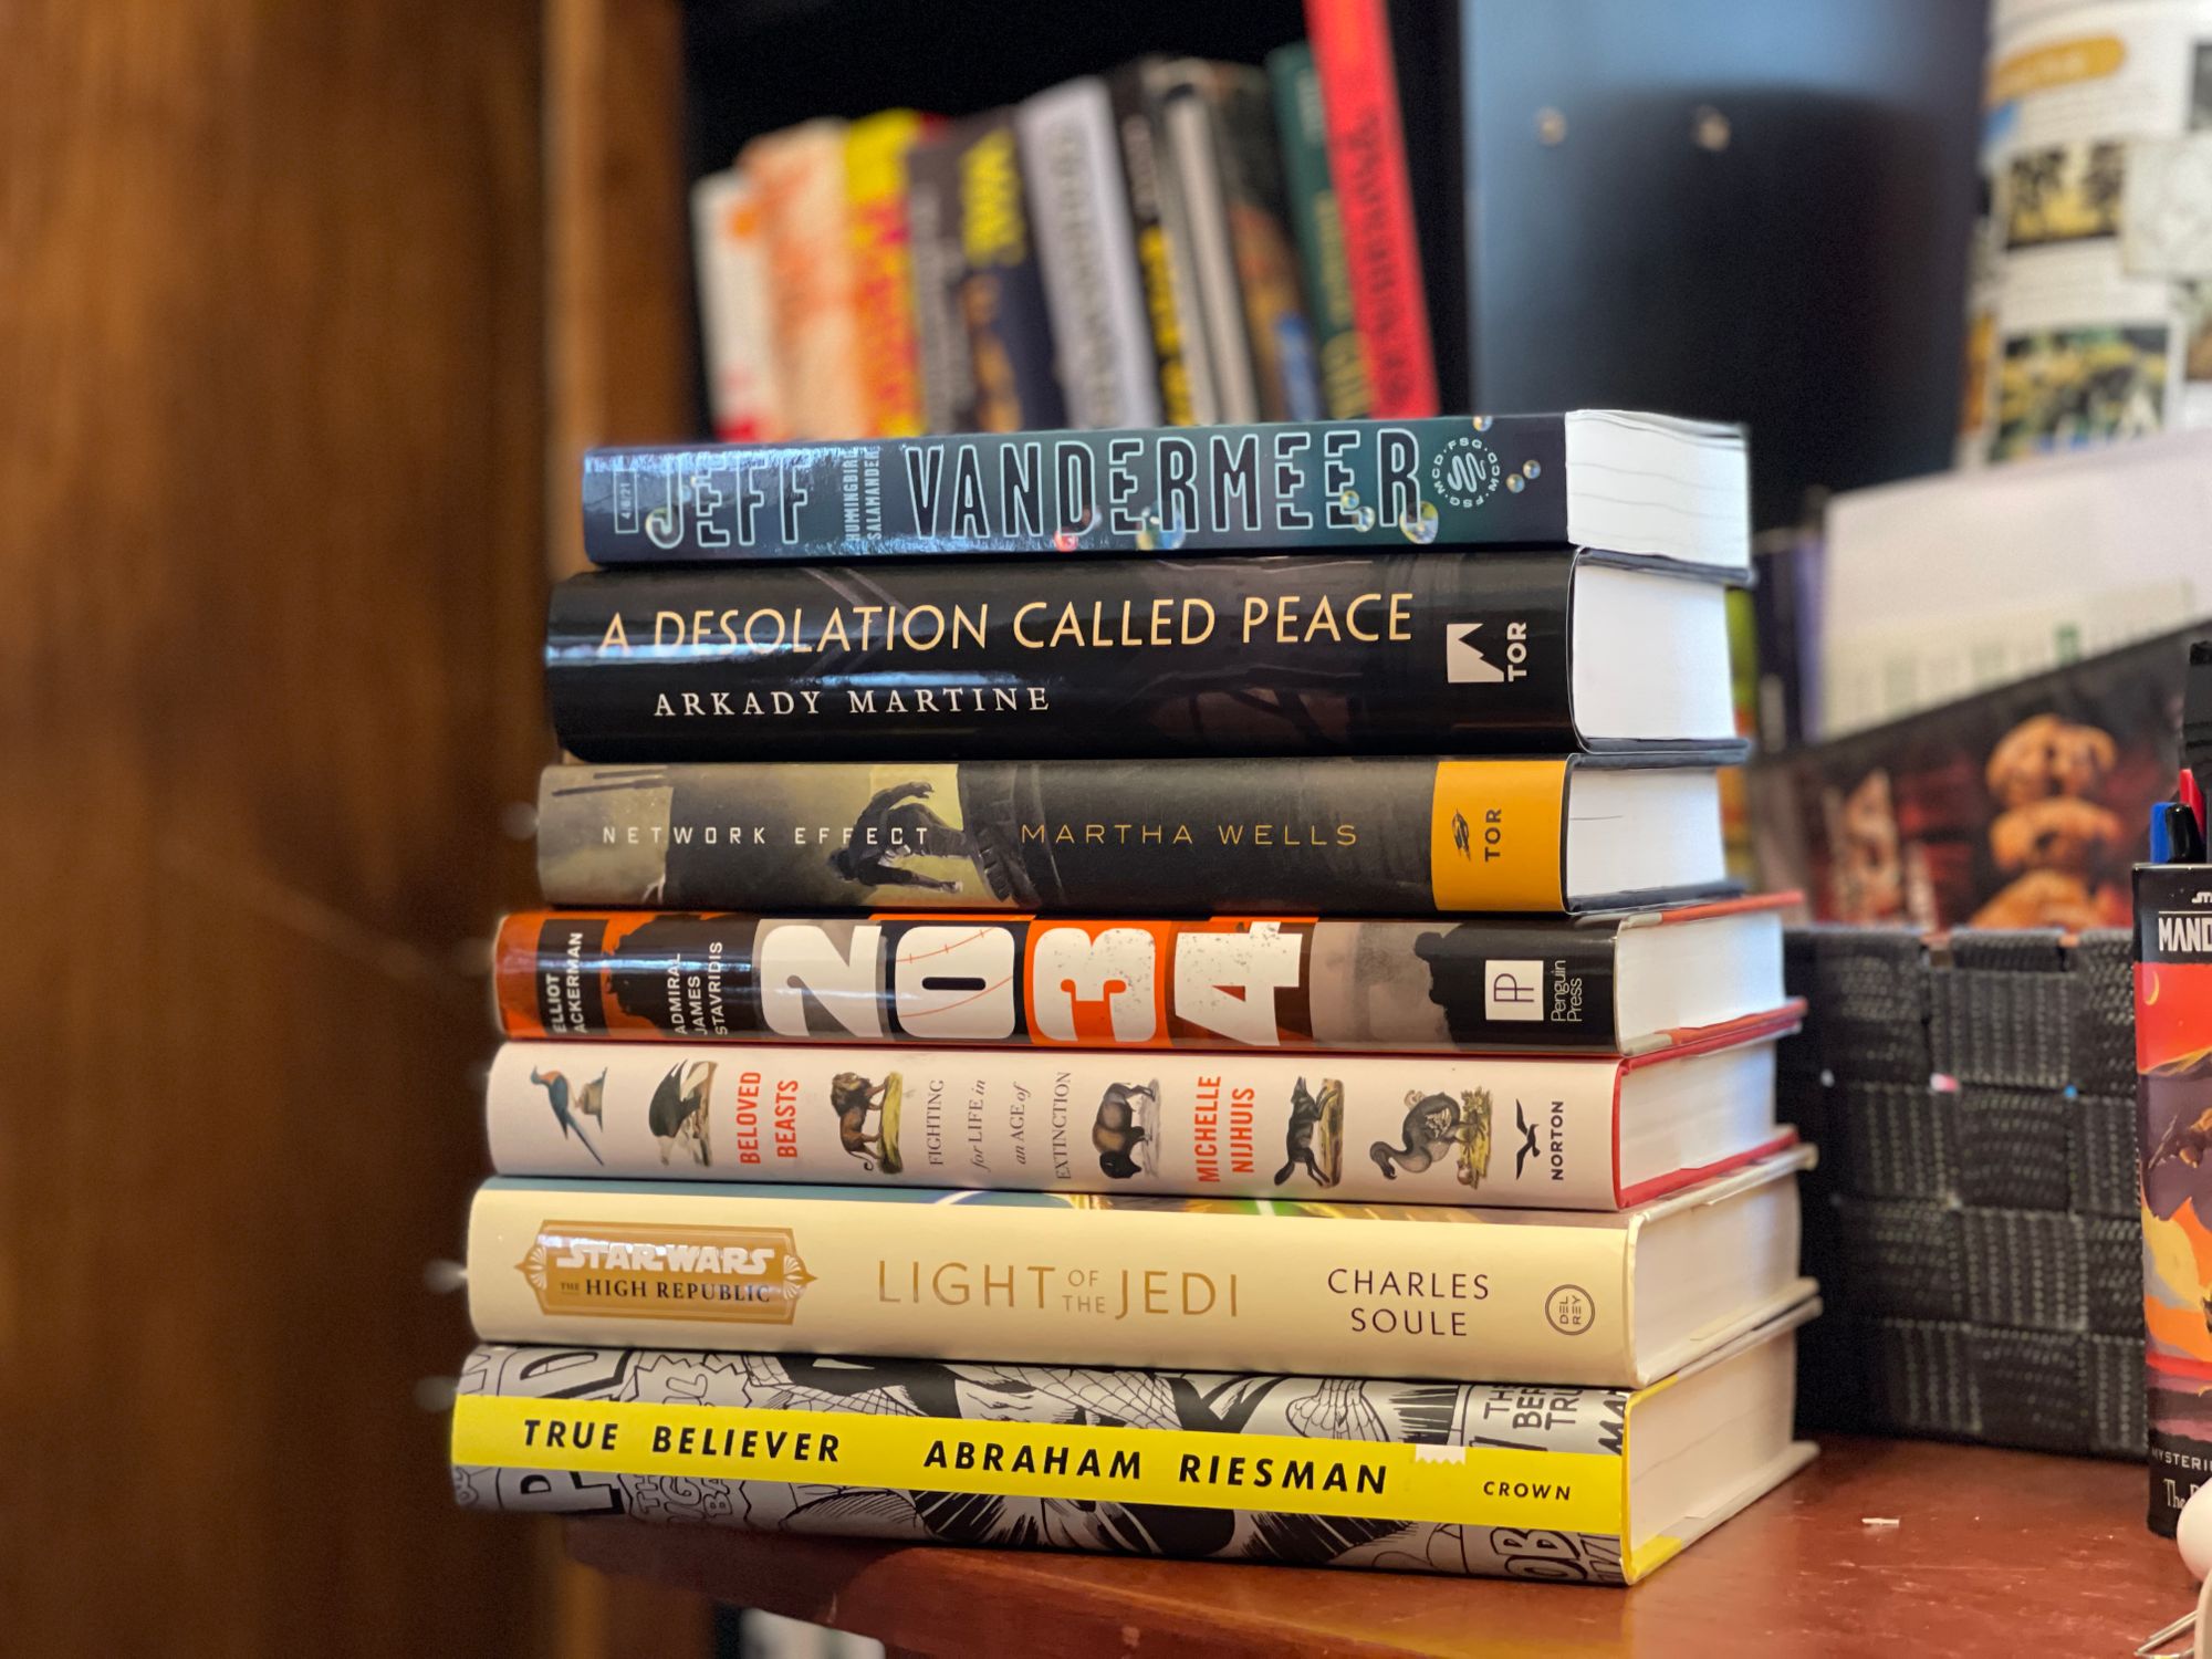
[[[580,575],[546,695],[586,761],[1564,754],[1573,582],[1564,551]]]

